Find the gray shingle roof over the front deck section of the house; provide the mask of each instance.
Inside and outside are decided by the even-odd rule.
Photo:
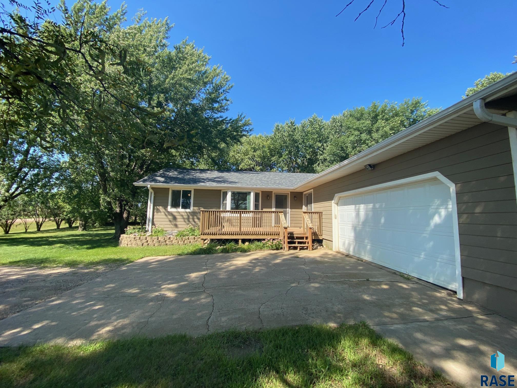
[[[168,168],[150,174],[136,185],[195,185],[195,186],[239,186],[293,188],[316,174],[269,172],[269,171],[227,171]]]

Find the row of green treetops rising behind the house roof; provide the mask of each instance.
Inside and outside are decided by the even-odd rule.
[[[372,102],[330,120],[313,115],[276,124],[271,135],[245,137],[226,152],[226,164],[248,171],[321,172],[438,112],[421,98]],[[224,165],[225,163],[221,163]]]

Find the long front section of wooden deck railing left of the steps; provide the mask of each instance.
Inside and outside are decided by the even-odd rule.
[[[274,210],[202,210],[200,232],[210,238],[283,238],[281,215]]]

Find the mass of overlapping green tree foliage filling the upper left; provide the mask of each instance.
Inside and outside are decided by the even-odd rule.
[[[0,207],[44,189],[65,160],[93,172],[118,236],[141,201],[134,181],[231,145],[251,123],[227,115],[233,84],[203,49],[169,46],[168,19],[141,11],[128,24],[125,5],[93,0],[58,12],[61,24],[3,13]]]

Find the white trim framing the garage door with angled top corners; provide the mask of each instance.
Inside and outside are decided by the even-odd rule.
[[[339,251],[339,225],[338,225],[338,202],[341,198],[347,196],[353,196],[359,193],[366,193],[369,191],[377,191],[379,189],[385,188],[393,188],[397,186],[404,186],[410,183],[418,183],[424,181],[432,181],[438,179],[442,181],[442,183],[446,184],[450,188],[451,195],[451,206],[452,206],[452,230],[453,230],[453,238],[454,238],[454,257],[456,263],[456,281],[457,281],[457,296],[458,299],[463,299],[463,280],[461,276],[461,256],[460,256],[460,233],[458,230],[458,209],[456,206],[456,187],[454,183],[449,181],[444,175],[440,174],[438,171],[430,172],[428,174],[416,175],[409,178],[404,178],[398,181],[391,181],[386,183],[381,183],[379,185],[363,187],[356,190],[350,190],[345,192],[340,192],[334,195],[334,200],[332,201],[332,249],[335,251]]]

